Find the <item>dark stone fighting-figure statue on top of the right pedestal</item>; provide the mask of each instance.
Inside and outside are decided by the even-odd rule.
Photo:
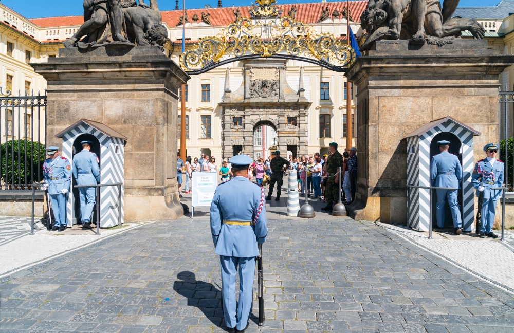
[[[368,39],[361,50],[378,40],[408,39],[423,45],[427,38],[458,37],[468,30],[475,39],[484,38],[485,30],[475,20],[452,20],[460,0],[369,0],[361,15],[361,27]]]

